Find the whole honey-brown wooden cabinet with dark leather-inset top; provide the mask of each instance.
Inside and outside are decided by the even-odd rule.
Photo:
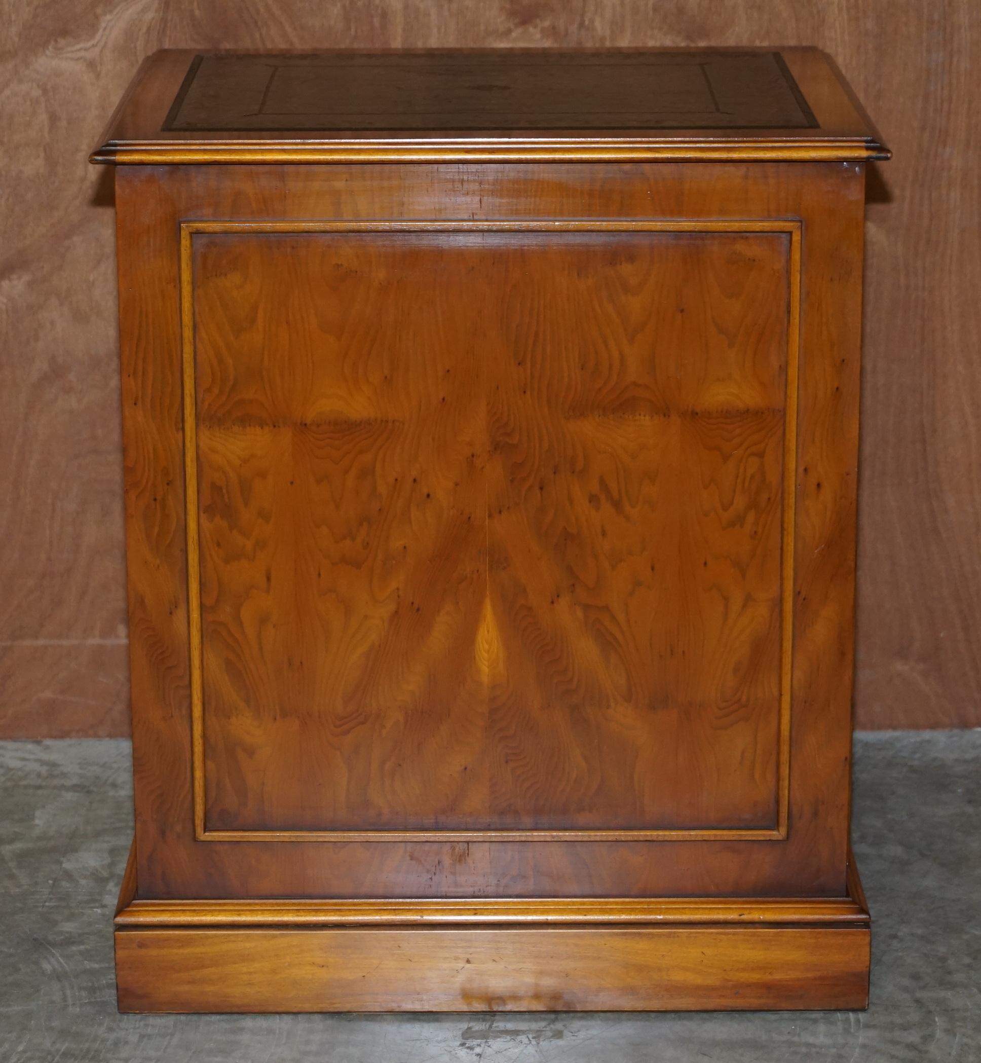
[[[158,52],[92,157],[121,1009],[864,1007],[827,56]]]

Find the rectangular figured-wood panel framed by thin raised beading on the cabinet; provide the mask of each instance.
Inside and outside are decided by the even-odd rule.
[[[188,229],[199,837],[784,837],[797,235]]]

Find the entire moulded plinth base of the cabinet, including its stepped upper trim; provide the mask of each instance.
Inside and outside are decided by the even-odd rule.
[[[806,899],[141,900],[129,872],[116,916],[124,1012],[868,1002],[853,862],[848,897]]]

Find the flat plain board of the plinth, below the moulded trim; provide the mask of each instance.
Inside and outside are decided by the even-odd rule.
[[[860,927],[146,929],[120,1011],[865,1008]]]

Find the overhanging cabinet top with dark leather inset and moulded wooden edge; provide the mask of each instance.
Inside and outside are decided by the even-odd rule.
[[[814,48],[160,51],[94,162],[887,157]]]

